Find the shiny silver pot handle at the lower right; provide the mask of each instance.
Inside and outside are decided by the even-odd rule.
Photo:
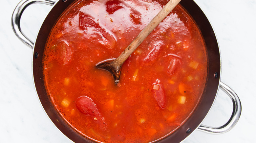
[[[231,130],[236,125],[238,119],[240,118],[242,106],[237,94],[230,87],[228,87],[222,82],[220,82],[220,89],[222,89],[231,98],[233,102],[233,112],[230,119],[223,126],[210,127],[206,125],[201,125],[198,128],[198,130],[210,134],[222,134]]]

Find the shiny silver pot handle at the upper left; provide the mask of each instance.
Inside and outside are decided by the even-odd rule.
[[[34,42],[30,40],[21,30],[20,28],[20,18],[23,11],[31,4],[46,4],[53,6],[53,4],[57,2],[57,0],[22,0],[14,9],[11,16],[11,26],[15,35],[26,45],[28,45],[31,49],[33,49]]]

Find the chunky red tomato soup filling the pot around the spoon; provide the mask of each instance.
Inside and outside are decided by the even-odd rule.
[[[122,66],[120,82],[97,69],[117,58],[167,1],[78,1],[59,18],[44,53],[44,78],[60,115],[98,142],[152,142],[173,133],[203,94],[207,54],[178,5]]]

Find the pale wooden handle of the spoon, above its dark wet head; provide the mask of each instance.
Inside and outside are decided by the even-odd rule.
[[[124,61],[136,50],[143,40],[157,27],[157,25],[175,8],[181,0],[170,0],[161,11],[147,24],[131,44],[117,57],[116,65],[122,65]]]

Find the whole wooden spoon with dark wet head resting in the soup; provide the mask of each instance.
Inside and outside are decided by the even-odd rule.
[[[121,66],[124,61],[136,50],[140,43],[157,27],[157,25],[175,8],[181,0],[170,0],[161,11],[147,24],[147,26],[139,33],[139,35],[131,42],[131,44],[118,56],[115,60],[105,60],[96,65],[98,69],[109,71],[115,79],[115,83],[119,82]]]

